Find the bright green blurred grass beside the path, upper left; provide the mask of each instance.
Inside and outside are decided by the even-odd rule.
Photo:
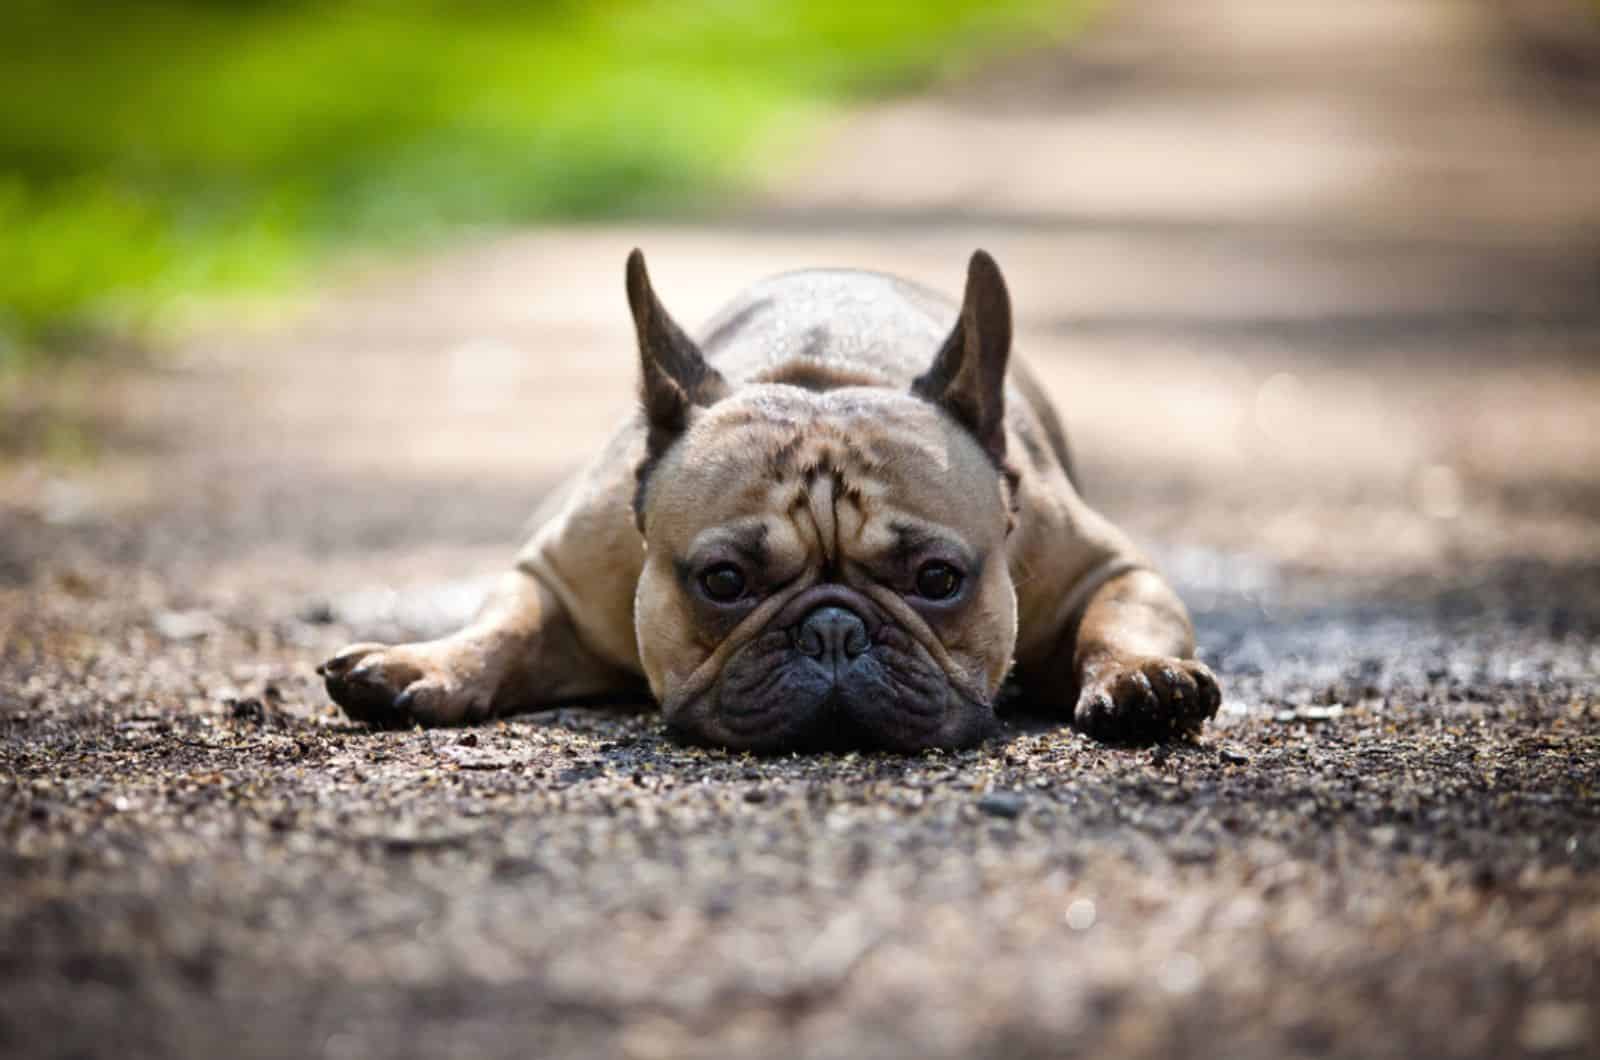
[[[1088,3],[10,0],[0,360],[342,247],[691,207],[774,130]]]

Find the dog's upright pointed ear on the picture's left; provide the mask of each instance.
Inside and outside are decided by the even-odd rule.
[[[726,395],[728,383],[667,315],[637,248],[627,256],[627,304],[638,333],[640,399],[651,434],[678,434],[688,426],[690,408],[717,402]]]

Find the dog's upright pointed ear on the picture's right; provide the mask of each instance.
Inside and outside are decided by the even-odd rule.
[[[966,295],[950,338],[912,392],[942,407],[997,461],[1005,460],[1005,367],[1011,355],[1011,296],[986,251],[966,263]]]

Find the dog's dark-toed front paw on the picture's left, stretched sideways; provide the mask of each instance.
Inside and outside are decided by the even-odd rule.
[[[352,644],[317,668],[352,719],[381,727],[461,725],[490,714],[483,666],[450,640]]]

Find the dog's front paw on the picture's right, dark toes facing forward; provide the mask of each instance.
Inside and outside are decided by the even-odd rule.
[[[1205,663],[1120,656],[1086,668],[1072,721],[1096,740],[1157,743],[1198,730],[1221,703]]]

